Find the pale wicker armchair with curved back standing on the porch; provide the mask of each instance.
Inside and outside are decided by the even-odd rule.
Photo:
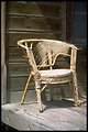
[[[31,77],[33,77],[41,112],[43,111],[41,94],[47,85],[68,82],[74,91],[75,106],[79,106],[76,77],[77,47],[75,45],[62,41],[41,38],[20,40],[18,41],[18,45],[24,48],[31,66],[31,73],[24,88],[21,105],[24,103],[29,82]],[[64,58],[69,57],[69,68],[55,69],[55,62],[57,57],[61,58],[61,56],[64,56]],[[53,99],[52,88],[53,87],[50,88],[51,99]]]

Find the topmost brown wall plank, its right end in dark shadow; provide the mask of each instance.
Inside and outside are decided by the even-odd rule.
[[[14,13],[31,13],[31,14],[42,14],[45,13],[45,15],[59,15],[62,13],[61,11],[61,6],[63,6],[63,2],[56,2],[54,4],[44,4],[44,2],[38,3],[38,2],[10,2],[10,12]],[[46,9],[46,10],[45,10]],[[41,12],[42,10],[42,12]]]

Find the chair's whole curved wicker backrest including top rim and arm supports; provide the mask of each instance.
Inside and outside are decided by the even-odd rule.
[[[55,64],[56,57],[59,55],[69,56],[73,67],[74,62],[76,63],[76,54],[74,55],[74,52],[72,52],[72,50],[76,50],[76,46],[66,42],[32,38],[19,41],[18,44],[25,50],[28,48],[28,56],[30,57],[31,54],[29,63],[31,63],[32,67],[36,67],[36,65],[38,67],[51,67]]]

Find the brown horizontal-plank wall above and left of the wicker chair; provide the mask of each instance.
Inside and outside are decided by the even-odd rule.
[[[66,40],[65,2],[7,2],[8,92],[24,88],[29,64],[16,45],[21,38]]]

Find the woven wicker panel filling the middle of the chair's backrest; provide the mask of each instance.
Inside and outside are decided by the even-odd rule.
[[[40,65],[53,65],[57,55],[70,54],[69,45],[63,42],[38,42],[35,48]]]

